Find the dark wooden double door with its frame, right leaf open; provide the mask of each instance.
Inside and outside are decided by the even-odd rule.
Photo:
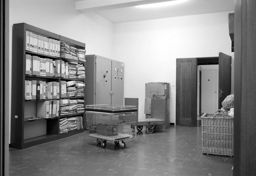
[[[219,65],[218,108],[231,92],[231,56],[176,59],[176,125],[197,126],[198,65]],[[215,91],[214,91],[215,92]],[[209,100],[211,101],[211,100]],[[202,104],[202,103],[201,103]],[[208,112],[209,113],[209,112]]]

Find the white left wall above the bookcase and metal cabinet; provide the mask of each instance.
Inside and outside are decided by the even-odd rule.
[[[9,88],[11,89],[12,25],[29,25],[86,43],[86,54],[114,55],[114,25],[97,14],[81,14],[72,0],[10,0]],[[8,61],[7,61],[8,62]],[[11,112],[11,96],[6,106]],[[10,116],[10,115],[9,115]]]

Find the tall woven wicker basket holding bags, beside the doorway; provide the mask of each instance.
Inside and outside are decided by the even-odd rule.
[[[215,114],[205,113],[202,119],[203,153],[234,155],[233,118],[218,110]]]

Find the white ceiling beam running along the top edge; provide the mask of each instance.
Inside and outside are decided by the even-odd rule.
[[[111,10],[144,4],[161,3],[173,0],[83,0],[76,1],[76,10],[85,13],[91,11]]]

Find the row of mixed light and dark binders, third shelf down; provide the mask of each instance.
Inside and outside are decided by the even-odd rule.
[[[60,98],[59,82],[25,80],[25,100],[58,98]]]

